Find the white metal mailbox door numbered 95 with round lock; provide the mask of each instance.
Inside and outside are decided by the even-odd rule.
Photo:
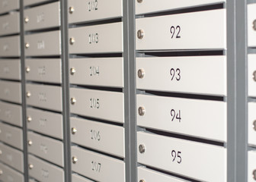
[[[140,145],[146,151],[137,151],[139,163],[197,180],[226,181],[224,147],[138,132],[137,149]]]

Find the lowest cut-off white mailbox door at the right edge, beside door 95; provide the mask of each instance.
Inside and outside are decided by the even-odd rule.
[[[248,182],[254,182],[256,151],[248,151]]]

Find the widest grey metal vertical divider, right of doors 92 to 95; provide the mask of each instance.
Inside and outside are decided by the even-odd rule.
[[[227,178],[247,181],[246,0],[227,0]]]

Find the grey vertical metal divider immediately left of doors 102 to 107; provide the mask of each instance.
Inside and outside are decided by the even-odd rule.
[[[68,1],[60,0],[61,16],[61,60],[62,60],[62,116],[63,116],[63,146],[65,181],[71,182],[71,143],[69,132],[69,45],[68,45]]]

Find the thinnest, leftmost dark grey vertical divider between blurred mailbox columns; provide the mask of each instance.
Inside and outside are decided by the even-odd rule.
[[[27,104],[26,104],[26,75],[25,75],[25,53],[24,53],[24,4],[20,0],[20,39],[21,39],[21,99],[22,99],[22,129],[23,129],[23,153],[24,153],[24,181],[28,176],[28,152],[27,152]]]

